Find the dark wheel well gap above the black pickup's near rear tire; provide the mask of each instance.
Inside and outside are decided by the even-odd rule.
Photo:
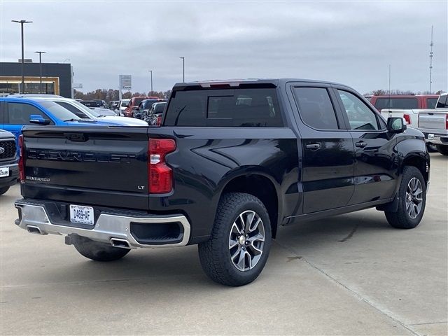
[[[272,238],[276,236],[279,224],[281,197],[278,184],[271,176],[262,172],[239,174],[223,183],[219,198],[227,193],[246,193],[257,197],[266,207],[272,227]]]

